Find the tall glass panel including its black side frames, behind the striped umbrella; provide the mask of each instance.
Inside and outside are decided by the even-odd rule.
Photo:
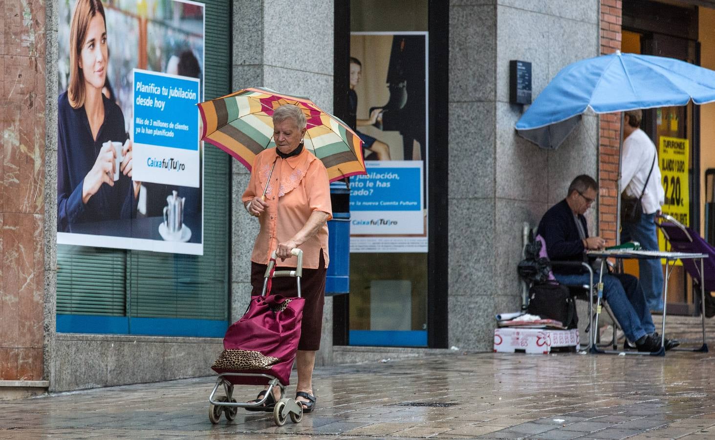
[[[363,140],[350,178],[350,293],[333,302],[335,345],[447,343],[445,210],[449,6],[439,0],[336,3],[335,112]],[[435,179],[435,177],[438,177]]]

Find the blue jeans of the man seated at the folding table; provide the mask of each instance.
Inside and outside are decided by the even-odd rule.
[[[553,276],[561,284],[584,285],[588,284],[591,275],[554,273]],[[598,283],[598,272],[593,273],[593,283]],[[641,336],[656,331],[638,278],[627,273],[603,275],[603,298],[608,301],[629,341],[638,341]]]

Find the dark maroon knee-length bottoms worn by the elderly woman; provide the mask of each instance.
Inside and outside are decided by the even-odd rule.
[[[263,290],[263,280],[267,265],[251,262],[251,295],[258,296]],[[275,270],[295,270],[285,266],[277,266]],[[300,278],[300,293],[305,298],[303,320],[300,326],[300,342],[298,350],[317,351],[320,349],[320,332],[322,330],[322,306],[325,303],[325,258],[320,250],[320,261],[317,269],[303,269]],[[273,295],[285,297],[297,296],[295,278],[273,278],[271,292]]]

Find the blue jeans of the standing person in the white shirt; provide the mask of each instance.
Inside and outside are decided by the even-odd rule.
[[[621,243],[637,241],[644,250],[658,250],[656,215],[641,215],[641,221],[633,225],[621,225]],[[638,260],[639,275],[646,303],[651,311],[663,311],[663,265],[660,258]]]

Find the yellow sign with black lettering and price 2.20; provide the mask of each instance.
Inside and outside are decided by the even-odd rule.
[[[686,226],[690,226],[689,152],[687,139],[660,137],[658,159],[663,179],[661,185],[665,191],[665,203],[661,210]],[[660,229],[658,245],[660,250],[666,250],[666,242]],[[678,261],[678,264],[682,263]]]

